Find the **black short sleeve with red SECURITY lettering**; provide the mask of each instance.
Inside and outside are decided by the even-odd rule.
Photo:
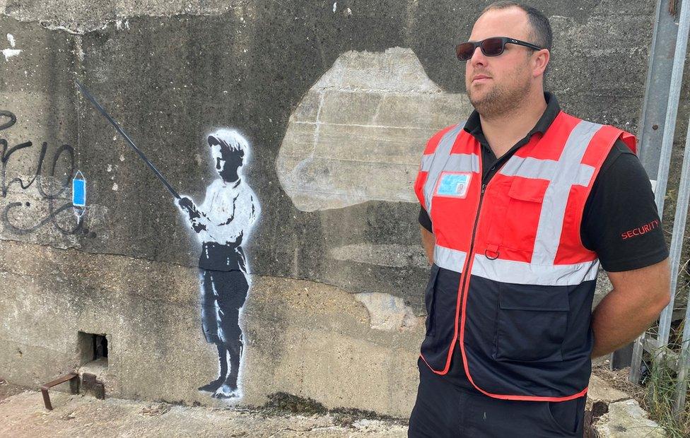
[[[668,256],[647,172],[620,140],[587,198],[580,235],[609,272],[644,268]]]

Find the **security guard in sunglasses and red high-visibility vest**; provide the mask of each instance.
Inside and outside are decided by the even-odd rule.
[[[635,138],[544,93],[551,38],[499,1],[456,48],[475,111],[428,141],[415,182],[433,265],[411,437],[582,436],[591,357],[669,302]],[[600,263],[614,289],[592,314]]]

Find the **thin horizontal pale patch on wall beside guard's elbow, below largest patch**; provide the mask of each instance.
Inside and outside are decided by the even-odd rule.
[[[399,244],[351,244],[332,248],[329,255],[336,260],[356,261],[393,268],[428,268],[429,262],[420,246]]]

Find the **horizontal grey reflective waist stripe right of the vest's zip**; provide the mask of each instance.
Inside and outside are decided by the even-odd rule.
[[[472,264],[473,276],[520,285],[579,285],[597,278],[598,271],[598,259],[581,264],[544,266],[523,261],[491,260],[483,254],[475,254]]]

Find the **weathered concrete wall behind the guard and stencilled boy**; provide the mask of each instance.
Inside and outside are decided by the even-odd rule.
[[[453,47],[488,3],[0,0],[0,377],[48,381],[81,365],[78,331],[107,333],[108,395],[226,403],[197,391],[218,372],[197,237],[78,79],[196,201],[218,177],[206,136],[248,141],[240,403],[409,415],[428,273],[411,182],[426,137],[472,109]],[[534,4],[563,109],[636,132],[653,2]]]

